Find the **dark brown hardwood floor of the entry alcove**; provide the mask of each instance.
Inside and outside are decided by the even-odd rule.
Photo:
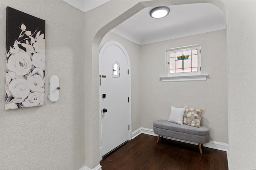
[[[101,162],[102,170],[228,170],[226,152],[140,134]]]

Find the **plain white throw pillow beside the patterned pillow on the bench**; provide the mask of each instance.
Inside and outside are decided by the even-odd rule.
[[[184,113],[185,113],[185,108],[171,107],[171,113],[168,121],[183,125]]]

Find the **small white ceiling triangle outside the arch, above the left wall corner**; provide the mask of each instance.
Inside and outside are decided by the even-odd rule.
[[[94,8],[97,8],[98,6],[101,6],[102,4],[105,4],[110,0],[63,0],[63,1],[82,12],[87,12]]]

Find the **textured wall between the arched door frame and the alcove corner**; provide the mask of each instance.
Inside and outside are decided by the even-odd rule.
[[[140,45],[130,42],[113,32],[108,32],[100,42],[100,48],[104,43],[114,40],[126,49],[131,63],[131,102],[132,102],[132,131],[141,127],[140,123]]]

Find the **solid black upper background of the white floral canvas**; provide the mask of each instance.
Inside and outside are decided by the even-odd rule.
[[[36,18],[24,12],[15,10],[14,8],[10,8],[9,6],[6,8],[6,49],[9,50],[10,46],[14,44],[15,40],[18,40],[20,35],[21,24],[26,26],[26,30],[31,31],[31,34],[37,30],[40,30],[40,34],[45,34],[45,20],[40,18]],[[35,38],[36,34],[33,35]],[[24,38],[28,38],[24,35]],[[25,43],[25,42],[24,42]]]

